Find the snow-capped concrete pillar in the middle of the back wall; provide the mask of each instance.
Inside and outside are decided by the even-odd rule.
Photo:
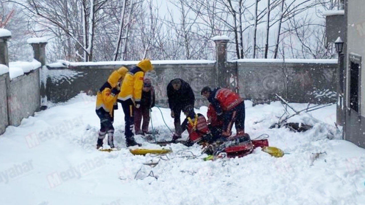
[[[226,88],[227,87],[227,43],[229,42],[228,36],[214,36],[212,38],[215,42],[216,52],[216,85]]]

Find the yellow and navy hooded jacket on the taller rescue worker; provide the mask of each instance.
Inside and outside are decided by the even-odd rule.
[[[143,77],[145,72],[153,70],[150,59],[143,59],[124,77],[118,100],[131,99],[135,104],[141,104]]]

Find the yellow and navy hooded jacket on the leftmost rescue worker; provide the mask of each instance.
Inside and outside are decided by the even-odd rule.
[[[124,78],[128,69],[126,67],[120,67],[118,70],[113,71],[110,74],[108,81],[104,83],[99,89],[96,96],[96,111],[108,112],[110,116],[113,116],[113,105],[115,104],[119,89],[118,81],[120,78]]]

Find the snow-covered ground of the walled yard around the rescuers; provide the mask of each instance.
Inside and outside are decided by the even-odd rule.
[[[173,150],[166,156],[134,156],[125,145],[121,108],[114,125],[115,144],[122,149],[100,152],[94,148],[99,129],[95,96],[80,94],[0,135],[0,204],[365,204],[365,150],[340,140],[335,105],[311,112],[314,118],[291,118],[314,125],[294,133],[269,129],[283,114],[280,102],[245,103],[246,132],[251,138],[268,134],[269,145],[287,153],[282,158],[256,148],[243,158],[205,162],[199,146],[181,144],[166,146]],[[205,115],[207,107],[196,111]],[[161,112],[172,129],[169,110]],[[158,108],[153,108],[152,123],[161,132],[158,140],[170,139]],[[160,148],[141,136],[136,139],[143,148]],[[312,154],[320,152],[325,153],[318,158]]]

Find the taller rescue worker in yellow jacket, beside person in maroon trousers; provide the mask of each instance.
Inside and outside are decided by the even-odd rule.
[[[134,139],[134,108],[141,107],[143,77],[147,71],[153,70],[150,59],[143,59],[137,66],[130,70],[124,77],[118,102],[122,104],[125,121],[124,135],[126,137],[126,145],[141,146]]]

